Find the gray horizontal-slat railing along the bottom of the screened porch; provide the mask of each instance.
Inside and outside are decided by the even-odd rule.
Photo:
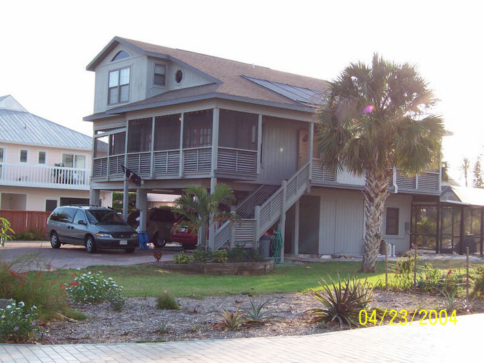
[[[122,165],[145,179],[205,177],[212,170],[212,147],[147,151],[95,158],[94,178],[122,176]],[[237,178],[256,176],[257,151],[218,147],[215,174]]]

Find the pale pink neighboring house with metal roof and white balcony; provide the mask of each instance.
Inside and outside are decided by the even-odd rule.
[[[89,203],[93,139],[0,97],[0,210]],[[111,192],[100,194],[111,205]]]

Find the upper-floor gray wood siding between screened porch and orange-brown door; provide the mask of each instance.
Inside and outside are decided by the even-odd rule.
[[[297,171],[298,132],[307,127],[304,122],[263,117],[262,163],[257,183],[280,185]]]

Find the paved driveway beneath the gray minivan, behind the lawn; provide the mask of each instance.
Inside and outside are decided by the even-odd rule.
[[[178,250],[180,250],[178,248]],[[162,249],[162,260],[171,261],[177,248]],[[100,250],[89,254],[84,247],[76,245],[62,245],[58,250],[50,247],[50,241],[7,241],[4,248],[0,248],[0,258],[11,261],[26,254],[38,254],[50,263],[52,268],[85,268],[93,265],[136,265],[138,263],[154,262],[153,250],[138,250],[127,254],[124,250]],[[30,266],[36,270],[37,266]]]

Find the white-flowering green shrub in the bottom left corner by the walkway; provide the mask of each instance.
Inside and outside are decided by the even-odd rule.
[[[26,342],[40,330],[37,308],[26,308],[24,302],[0,309],[0,341]]]

